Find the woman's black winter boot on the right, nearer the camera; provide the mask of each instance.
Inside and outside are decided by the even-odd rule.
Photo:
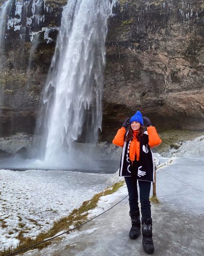
[[[155,251],[155,246],[152,240],[152,219],[142,218],[142,245],[144,250],[151,254]]]

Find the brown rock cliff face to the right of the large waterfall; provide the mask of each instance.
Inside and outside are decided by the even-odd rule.
[[[162,128],[203,129],[203,1],[120,2],[107,38],[107,115],[140,109]]]

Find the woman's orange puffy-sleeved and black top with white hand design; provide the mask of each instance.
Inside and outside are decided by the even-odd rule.
[[[157,146],[161,139],[154,126],[149,126],[140,141],[137,140],[138,131],[133,132],[133,139],[125,141],[126,130],[118,130],[113,143],[122,146],[119,176],[130,177],[136,175],[138,180],[154,182],[155,163],[150,147]],[[133,166],[135,161],[135,167]],[[131,163],[132,162],[132,163]]]

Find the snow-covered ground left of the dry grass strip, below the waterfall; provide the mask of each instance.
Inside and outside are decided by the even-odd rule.
[[[110,174],[66,170],[0,170],[0,244],[16,245],[20,230],[35,237],[110,185]],[[0,248],[1,248],[0,247]]]

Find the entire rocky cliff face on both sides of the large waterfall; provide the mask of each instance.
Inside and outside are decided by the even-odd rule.
[[[2,135],[34,132],[66,4],[42,2],[33,14],[31,1],[22,17],[17,2],[25,3],[12,2],[10,19],[20,22],[6,31],[0,73]],[[204,128],[203,31],[202,1],[118,2],[107,37],[103,139],[137,109],[161,128]]]

